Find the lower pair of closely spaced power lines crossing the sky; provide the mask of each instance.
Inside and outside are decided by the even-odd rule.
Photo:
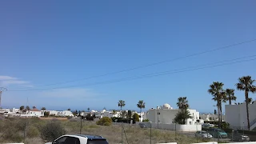
[[[232,65],[232,64],[241,63],[241,62],[250,62],[250,61],[256,60],[256,58],[254,58],[254,57],[256,57],[256,54],[247,56],[247,57],[242,57],[242,58],[234,58],[234,59],[230,59],[230,60],[225,60],[225,61],[221,61],[221,62],[203,64],[203,65],[199,65],[199,66],[189,66],[189,67],[182,68],[182,69],[167,70],[167,71],[162,71],[162,72],[152,73],[152,74],[144,74],[144,75],[137,76],[137,77],[120,78],[120,79],[115,79],[115,80],[110,80],[110,81],[94,82],[94,83],[88,83],[88,84],[82,84],[82,85],[54,87],[54,88],[47,88],[47,89],[8,90],[8,91],[55,90],[55,89],[63,89],[63,88],[70,88],[70,87],[76,87],[76,86],[94,86],[94,85],[101,85],[101,84],[114,83],[114,82],[124,82],[124,81],[130,81],[130,80],[135,80],[135,79],[158,77],[158,76],[168,75],[168,74],[178,74],[178,73],[182,73],[182,72],[186,72],[186,71],[202,70],[202,69],[213,68],[213,67],[217,67],[217,66]],[[250,58],[250,59],[241,60],[241,59],[245,59],[245,58]],[[240,60],[240,61],[238,61],[238,60]]]

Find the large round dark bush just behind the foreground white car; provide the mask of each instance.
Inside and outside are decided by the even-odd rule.
[[[42,126],[41,137],[43,140],[52,142],[63,134],[66,134],[66,131],[59,122],[49,122],[46,126]]]

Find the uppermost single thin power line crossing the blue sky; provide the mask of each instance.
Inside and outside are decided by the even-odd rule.
[[[100,77],[104,77],[104,76],[110,75],[110,74],[119,74],[119,73],[131,71],[131,70],[142,69],[142,68],[149,67],[149,66],[156,66],[156,65],[166,63],[166,62],[174,62],[174,61],[177,61],[179,59],[190,58],[190,57],[198,56],[198,55],[201,55],[201,54],[214,52],[214,51],[217,51],[217,50],[224,50],[224,49],[227,49],[227,48],[230,48],[230,47],[233,47],[233,46],[239,46],[239,45],[242,45],[242,44],[245,44],[245,43],[250,43],[250,42],[255,42],[255,41],[256,41],[256,38],[248,40],[248,41],[244,41],[244,42],[234,43],[234,44],[231,44],[229,46],[222,46],[222,47],[218,47],[218,48],[212,49],[212,50],[206,50],[206,51],[202,51],[202,52],[198,52],[198,53],[194,53],[194,54],[189,54],[189,55],[178,57],[178,58],[167,59],[167,60],[164,60],[164,61],[161,61],[161,62],[154,62],[154,63],[150,63],[150,64],[147,64],[147,65],[144,65],[144,66],[137,66],[137,67],[133,67],[133,68],[130,68],[130,69],[118,70],[118,71],[114,71],[114,72],[110,72],[110,73],[106,73],[106,74],[99,74],[99,75],[87,77],[87,78],[79,78],[79,79],[74,79],[74,80],[70,80],[70,81],[66,81],[66,82],[57,82],[57,83],[52,83],[52,84],[48,84],[48,85],[41,85],[41,86],[54,86],[54,85],[61,85],[61,84],[70,83],[70,82],[78,82],[78,81],[82,81],[82,80],[86,80],[86,79],[100,78]]]

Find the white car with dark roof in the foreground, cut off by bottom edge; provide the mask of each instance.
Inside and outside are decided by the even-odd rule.
[[[106,138],[98,135],[87,134],[70,134],[62,135],[54,142],[47,142],[46,144],[109,144]]]

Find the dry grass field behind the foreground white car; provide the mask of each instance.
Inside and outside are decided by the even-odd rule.
[[[24,122],[20,119],[6,121],[6,122]],[[40,127],[44,126],[47,121],[49,120],[42,120],[42,119],[30,119],[27,122],[27,126],[31,127],[34,126],[38,128],[40,131]],[[69,121],[59,121],[61,125],[65,127],[66,134],[79,134],[80,133],[80,120],[69,120]],[[0,124],[4,124],[5,121],[0,122]],[[3,125],[2,125],[3,126]],[[2,127],[0,127],[2,128]],[[113,125],[113,126],[98,126],[95,122],[82,122],[82,134],[98,134],[102,135],[103,137],[107,138],[110,144],[117,144],[129,142],[129,144],[148,144],[150,143],[150,129],[142,129],[136,126],[124,126],[125,133],[122,134],[122,126],[120,125]],[[3,131],[0,130],[0,135]],[[17,134],[21,135],[22,137],[22,130],[16,132]],[[126,139],[127,137],[127,139]],[[23,138],[23,137],[22,137]],[[6,140],[0,138],[1,142],[6,142]],[[8,140],[11,142],[11,139]],[[174,131],[170,130],[154,130],[152,129],[152,143],[158,142],[178,142],[178,144],[186,144],[186,143],[193,143],[197,142],[196,138],[188,137],[184,134],[176,134]],[[202,139],[198,139],[198,142],[204,142]],[[43,144],[45,141],[42,140],[40,137],[36,138],[28,138],[26,136],[26,144]]]

